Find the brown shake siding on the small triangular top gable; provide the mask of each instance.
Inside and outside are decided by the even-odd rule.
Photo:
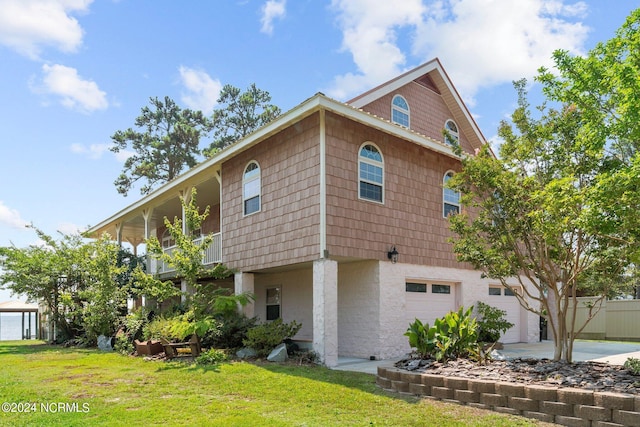
[[[442,95],[417,82],[402,86],[397,91],[363,106],[362,110],[391,121],[391,101],[396,95],[402,95],[409,104],[409,127],[412,130],[436,141],[442,141],[445,122],[453,120],[458,125],[460,146],[464,151],[473,153],[474,150],[464,132],[463,122],[466,122],[466,119],[455,117],[449,111]]]

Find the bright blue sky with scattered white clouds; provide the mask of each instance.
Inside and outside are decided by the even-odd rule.
[[[151,97],[216,107],[255,83],[287,111],[346,101],[434,57],[496,143],[512,81],[613,37],[638,0],[0,0],[0,246],[99,223]],[[535,86],[532,88],[535,91]],[[202,146],[209,141],[203,140]],[[0,290],[0,302],[10,299]]]

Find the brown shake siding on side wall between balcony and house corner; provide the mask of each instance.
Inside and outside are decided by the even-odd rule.
[[[319,257],[320,150],[318,113],[222,165],[224,262],[251,271]],[[242,177],[260,165],[261,209],[243,215]]]

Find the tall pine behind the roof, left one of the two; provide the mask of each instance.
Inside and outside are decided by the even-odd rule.
[[[157,185],[176,178],[185,167],[195,166],[200,138],[209,131],[202,112],[183,110],[168,96],[164,100],[150,98],[150,104],[151,108],[143,107],[135,120],[142,130],[129,128],[111,136],[111,151],[133,151],[114,182],[118,193],[125,196],[138,180],[146,181],[140,193],[148,194]]]

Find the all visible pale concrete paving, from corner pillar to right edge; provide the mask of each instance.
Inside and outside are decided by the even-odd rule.
[[[499,353],[507,358],[535,357],[538,359],[551,359],[553,358],[553,341],[505,344],[504,349],[500,350]],[[576,340],[573,344],[574,362],[589,360],[622,365],[629,357],[640,359],[640,343]],[[338,365],[332,369],[375,375],[378,373],[378,366],[393,366],[399,359],[367,360],[355,357],[339,357]]]

